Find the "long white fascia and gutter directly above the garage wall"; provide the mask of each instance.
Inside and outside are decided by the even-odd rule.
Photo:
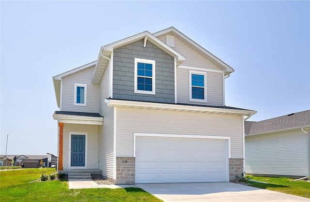
[[[241,109],[223,109],[213,107],[200,107],[200,106],[187,106],[178,104],[166,104],[166,103],[154,103],[154,102],[141,102],[141,101],[124,101],[124,100],[110,100],[105,99],[110,107],[135,107],[135,108],[158,108],[158,109],[175,109],[175,110],[189,110],[197,112],[218,112],[218,113],[231,113],[240,115],[256,114],[253,110],[241,110]]]

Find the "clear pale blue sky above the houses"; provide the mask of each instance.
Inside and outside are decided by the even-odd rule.
[[[309,1],[1,1],[0,153],[57,154],[52,76],[100,46],[175,27],[229,64],[226,105],[253,121],[310,109]]]

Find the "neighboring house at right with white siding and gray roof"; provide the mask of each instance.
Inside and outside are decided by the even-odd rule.
[[[310,110],[245,122],[246,173],[310,175]]]

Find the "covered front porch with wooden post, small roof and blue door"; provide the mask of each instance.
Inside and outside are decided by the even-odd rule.
[[[58,120],[59,173],[91,173],[101,176],[98,164],[98,130],[103,117],[98,113],[56,111]]]

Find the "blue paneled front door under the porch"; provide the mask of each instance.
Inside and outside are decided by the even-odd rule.
[[[71,136],[71,166],[85,166],[85,135]]]

